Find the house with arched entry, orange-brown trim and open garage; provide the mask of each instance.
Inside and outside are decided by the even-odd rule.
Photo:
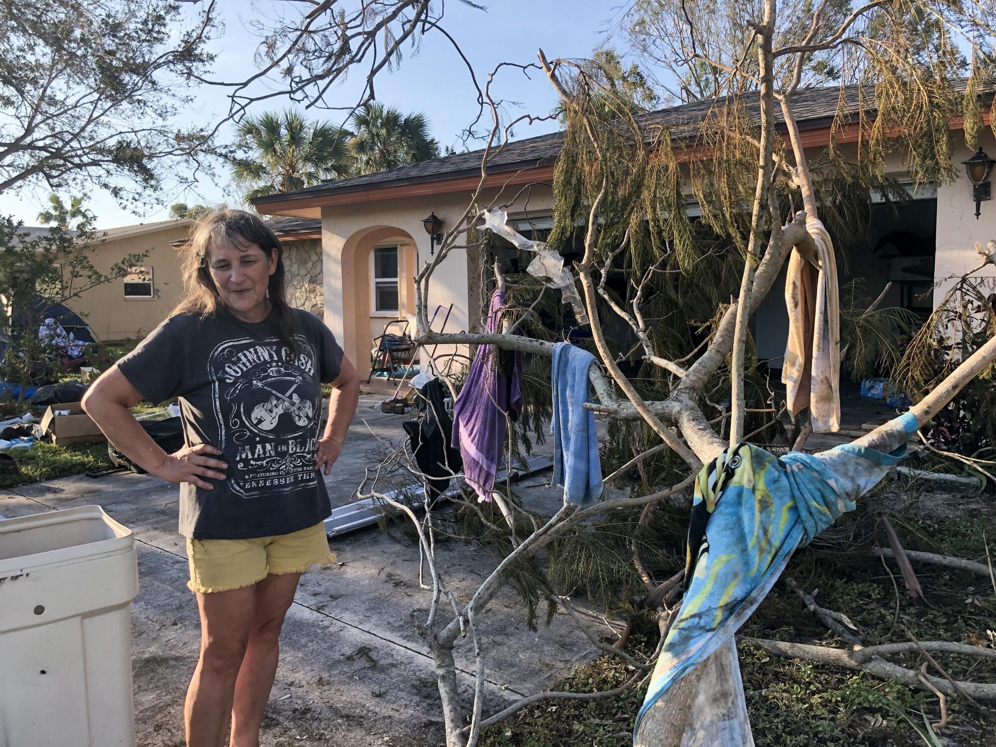
[[[840,93],[838,88],[812,89],[799,92],[793,100],[803,141],[812,155],[830,142]],[[856,111],[858,98],[854,91],[847,93]],[[709,106],[690,104],[641,119],[644,124],[668,126],[674,140],[680,141],[682,130],[690,130]],[[990,123],[988,113],[985,123]],[[953,129],[960,126],[959,122],[951,124]],[[531,227],[549,227],[550,183],[562,139],[561,133],[553,133],[505,145],[489,162],[479,203],[486,205],[499,193],[499,202],[512,200],[518,193],[508,213],[519,230],[529,235]],[[857,139],[855,126],[844,126],[836,133],[836,141],[845,147],[854,147]],[[996,140],[988,127],[980,144],[996,154]],[[970,155],[963,144],[956,146],[957,180],[936,188],[929,185],[915,194],[910,189],[912,200],[900,205],[897,213],[885,205],[872,207],[869,235],[854,245],[837,244],[842,285],[864,277],[874,297],[891,280],[884,303],[924,315],[931,303],[922,300],[922,294],[929,298],[930,288],[937,283],[933,292],[933,303],[937,303],[947,287],[946,279],[978,264],[973,243],[996,238],[996,203],[984,202],[981,218],[976,220],[972,187],[960,165]],[[384,321],[404,319],[414,312],[412,279],[416,268],[430,258],[423,219],[434,213],[445,228],[459,220],[480,179],[480,159],[481,151],[448,155],[252,200],[264,214],[321,221],[325,321],[365,376],[370,370],[371,342],[382,332]],[[897,157],[889,161],[887,171],[900,180],[906,177],[906,168]],[[532,186],[519,193],[524,184]],[[694,213],[697,206],[690,203],[688,209]],[[448,332],[476,324],[480,306],[477,272],[478,258],[468,257],[461,249],[451,252],[432,276],[428,312],[431,316],[437,307],[445,310],[452,304]],[[752,321],[759,356],[774,359],[776,368],[781,366],[778,359],[784,353],[788,329],[782,287],[773,289]]]

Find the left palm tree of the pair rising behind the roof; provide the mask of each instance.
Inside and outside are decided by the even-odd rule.
[[[294,110],[248,117],[237,134],[237,144],[248,152],[232,159],[232,178],[248,188],[246,199],[303,189],[351,172],[346,143],[353,133],[310,122]]]

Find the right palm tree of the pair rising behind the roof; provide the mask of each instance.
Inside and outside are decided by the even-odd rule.
[[[402,115],[393,107],[373,102],[353,116],[349,149],[355,173],[371,173],[439,155],[439,143],[429,136],[425,115]]]

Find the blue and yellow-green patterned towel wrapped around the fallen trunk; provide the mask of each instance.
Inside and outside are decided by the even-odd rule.
[[[911,413],[893,422],[907,434],[916,432]],[[741,443],[702,468],[688,526],[684,602],[664,640],[634,735],[671,685],[720,646],[732,647],[737,628],[768,594],[796,547],[852,511],[905,448],[884,454],[845,444],[779,459]],[[719,744],[739,747],[741,733],[734,737],[731,730],[731,738]]]

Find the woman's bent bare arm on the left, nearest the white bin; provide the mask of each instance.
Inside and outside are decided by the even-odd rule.
[[[141,400],[141,393],[114,367],[94,381],[83,395],[83,409],[96,422],[108,440],[124,456],[144,469],[150,475],[169,482],[189,482],[204,490],[214,486],[204,477],[224,480],[228,465],[207,454],[220,454],[214,446],[200,443],[184,446],[173,454],[167,454],[152,437],[145,432],[130,407]]]

